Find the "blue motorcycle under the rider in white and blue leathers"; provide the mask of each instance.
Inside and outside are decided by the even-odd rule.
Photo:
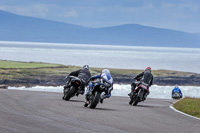
[[[90,89],[87,96],[89,103],[86,102],[84,107],[89,106],[91,109],[94,109],[100,101],[101,94],[108,91],[109,87],[111,87],[111,83],[108,83],[104,79],[97,79],[90,82],[93,84],[93,87]]]

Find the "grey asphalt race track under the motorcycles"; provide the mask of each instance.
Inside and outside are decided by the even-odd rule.
[[[89,109],[84,96],[61,97],[0,90],[0,133],[200,133],[200,120],[170,109],[173,100],[147,99],[134,107],[128,97],[113,96]]]

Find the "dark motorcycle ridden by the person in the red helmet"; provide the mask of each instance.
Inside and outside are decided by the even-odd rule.
[[[145,93],[147,93],[149,87],[148,84],[141,82],[138,84],[138,87],[135,89],[135,92],[131,92],[129,104],[137,106],[138,102],[145,101]]]

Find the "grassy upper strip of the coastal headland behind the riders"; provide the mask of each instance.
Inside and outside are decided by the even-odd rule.
[[[68,75],[71,71],[80,69],[78,66],[66,66],[59,64],[49,64],[40,62],[16,62],[0,60],[0,79],[17,79],[26,78],[30,76],[42,75]],[[91,68],[92,75],[100,73],[104,68]],[[144,70],[135,69],[111,69],[111,74],[114,75],[137,75]],[[169,70],[153,70],[154,77],[190,77],[194,73],[178,72]]]

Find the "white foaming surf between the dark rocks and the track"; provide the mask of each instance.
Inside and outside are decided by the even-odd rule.
[[[182,91],[183,97],[193,97],[200,98],[200,86],[179,86]],[[35,87],[8,87],[11,90],[28,90],[28,91],[42,91],[42,92],[57,92],[63,93],[63,86],[35,86]],[[157,99],[171,99],[171,93],[173,86],[158,86],[152,85],[150,88],[150,94],[148,98],[157,98]],[[120,85],[114,84],[113,91],[111,92],[112,96],[124,96],[128,97],[128,93],[131,91],[130,85]]]

